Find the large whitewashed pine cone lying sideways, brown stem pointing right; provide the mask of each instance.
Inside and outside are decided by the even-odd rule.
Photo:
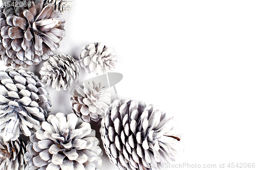
[[[111,105],[100,132],[106,154],[119,169],[157,169],[174,160],[181,133],[173,130],[173,117],[141,101]]]

